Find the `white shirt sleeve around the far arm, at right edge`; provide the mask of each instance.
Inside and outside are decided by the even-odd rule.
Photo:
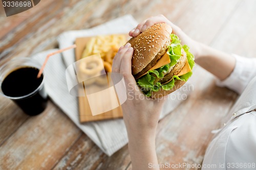
[[[234,54],[232,56],[236,58],[234,70],[225,80],[217,80],[216,85],[228,87],[241,94],[249,82],[256,76],[256,58],[246,58]]]

